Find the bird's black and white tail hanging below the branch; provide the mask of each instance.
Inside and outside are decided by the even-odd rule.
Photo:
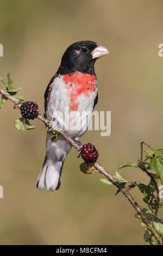
[[[37,178],[37,188],[41,190],[47,188],[49,191],[58,190],[62,166],[71,147],[72,146],[61,137],[59,137],[57,141],[52,142],[51,133],[47,133],[46,157],[42,170]]]

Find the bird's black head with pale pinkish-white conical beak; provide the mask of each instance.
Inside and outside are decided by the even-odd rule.
[[[97,52],[100,52],[100,47],[102,48],[101,54],[97,54]],[[96,42],[75,42],[67,48],[64,55],[62,56],[61,64],[57,73],[65,75],[79,71],[90,75],[94,75],[94,64],[96,62],[96,59],[108,53],[109,51],[106,48],[98,45]]]

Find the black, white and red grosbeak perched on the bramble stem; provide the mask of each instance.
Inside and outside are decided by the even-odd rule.
[[[106,54],[109,51],[105,47],[92,41],[76,42],[67,48],[44,96],[45,117],[53,118],[53,130],[61,127],[75,139],[86,131],[91,115],[85,112],[92,113],[98,100],[94,64]],[[74,115],[77,112],[79,117]],[[83,122],[75,127],[79,120]],[[54,191],[60,186],[62,166],[72,146],[61,136],[53,141],[51,135],[47,132],[46,157],[36,186]]]

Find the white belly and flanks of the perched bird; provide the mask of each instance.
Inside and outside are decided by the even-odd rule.
[[[78,94],[77,100],[72,105],[70,89],[65,86],[61,76],[56,77],[49,95],[46,116],[47,118],[56,119],[59,127],[64,129],[68,135],[80,137],[87,130],[90,123],[96,95],[97,86],[95,91],[88,95]]]

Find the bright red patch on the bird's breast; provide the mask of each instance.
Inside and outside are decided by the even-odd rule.
[[[75,72],[71,75],[64,75],[63,80],[66,83],[68,89],[68,97],[70,97],[71,103],[69,104],[70,111],[76,111],[78,109],[78,96],[84,94],[89,97],[90,93],[95,92],[96,89],[96,76],[83,74],[81,72]]]

